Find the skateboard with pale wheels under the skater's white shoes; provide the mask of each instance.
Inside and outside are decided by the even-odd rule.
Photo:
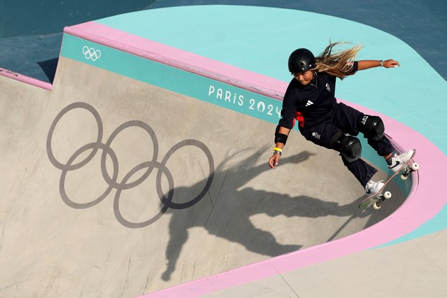
[[[413,171],[418,171],[419,165],[413,161],[415,155],[416,155],[416,149],[413,149],[413,155],[408,160],[408,162],[403,164],[402,167],[399,169],[399,171],[393,173],[392,176],[390,176],[390,178],[388,178],[388,180],[385,181],[381,190],[379,190],[375,194],[371,194],[371,196],[364,199],[362,203],[360,203],[359,208],[366,209],[372,205],[374,209],[376,210],[380,209],[383,201],[385,201],[385,199],[390,199],[392,196],[391,192],[385,191],[385,187],[388,186],[388,183],[390,183],[392,179],[394,179],[397,175],[400,175],[400,178],[402,180],[406,180],[407,178],[409,178],[410,173],[412,173]]]

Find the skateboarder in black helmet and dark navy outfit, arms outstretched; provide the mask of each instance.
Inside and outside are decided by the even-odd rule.
[[[361,132],[369,146],[383,156],[392,171],[408,161],[413,150],[397,154],[385,136],[383,121],[376,115],[365,115],[335,99],[336,78],[346,78],[357,71],[373,67],[397,67],[399,62],[388,60],[355,61],[361,49],[334,50],[339,43],[330,43],[322,54],[314,57],[310,50],[299,48],[289,57],[292,80],[285,92],[281,120],[275,132],[275,147],[269,159],[272,169],[278,165],[290,129],[298,121],[299,132],[308,141],[340,153],[343,164],[353,173],[367,194],[381,190],[383,181],[371,180],[377,169],[360,158],[362,146],[357,135]]]

